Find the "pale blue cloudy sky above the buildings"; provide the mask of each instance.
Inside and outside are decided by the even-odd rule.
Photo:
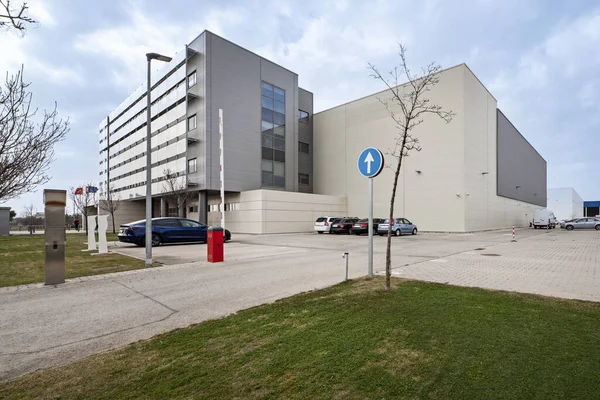
[[[16,3],[16,0],[15,0]],[[0,33],[0,72],[25,66],[34,103],[71,132],[46,186],[97,180],[100,120],[145,80],[145,54],[208,29],[299,74],[315,112],[383,89],[366,63],[462,62],[548,161],[548,187],[600,199],[600,6],[594,0],[29,0],[39,21]],[[42,206],[42,190],[10,200]]]

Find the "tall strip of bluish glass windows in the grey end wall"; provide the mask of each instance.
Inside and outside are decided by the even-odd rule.
[[[261,82],[262,185],[285,187],[285,90]]]

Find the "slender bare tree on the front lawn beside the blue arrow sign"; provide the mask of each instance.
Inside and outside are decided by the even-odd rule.
[[[447,123],[452,121],[454,113],[445,111],[442,106],[431,104],[428,92],[439,83],[441,67],[435,63],[421,68],[421,73],[413,73],[406,61],[406,47],[399,44],[400,65],[389,72],[389,77],[384,77],[373,64],[369,63],[371,76],[380,80],[388,88],[388,98],[379,98],[385,106],[388,114],[394,121],[397,136],[394,138],[393,147],[389,155],[396,159],[394,168],[394,184],[392,186],[392,197],[390,199],[390,224],[387,234],[387,248],[385,254],[385,290],[390,290],[391,279],[391,245],[392,227],[394,218],[394,201],[398,187],[398,176],[402,168],[402,160],[408,157],[412,151],[421,151],[419,138],[413,134],[413,129],[421,125],[427,114],[437,116]],[[402,83],[408,81],[407,83]]]

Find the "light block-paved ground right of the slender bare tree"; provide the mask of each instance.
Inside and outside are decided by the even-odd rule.
[[[430,282],[600,301],[600,233],[560,231],[395,268]]]

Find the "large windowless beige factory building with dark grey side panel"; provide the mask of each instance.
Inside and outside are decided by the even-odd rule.
[[[378,97],[314,116],[314,193],[346,196],[348,215],[368,213],[368,182],[357,168],[366,147],[384,154],[398,134]],[[403,160],[394,216],[421,231],[467,232],[524,226],[546,206],[546,161],[497,110],[494,96],[465,65],[446,69],[428,96],[456,115],[429,115],[413,133],[422,150]],[[386,165],[396,159],[386,156]],[[393,169],[374,182],[374,215],[389,215]]]

